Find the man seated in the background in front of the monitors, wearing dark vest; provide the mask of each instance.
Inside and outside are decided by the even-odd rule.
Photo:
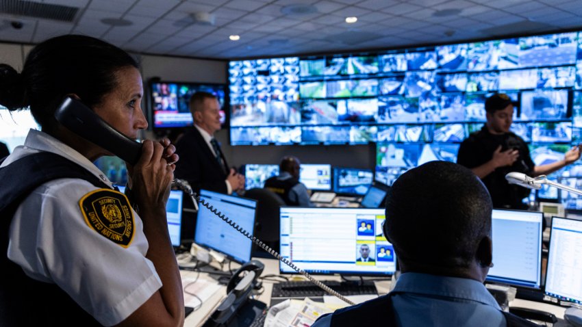
[[[286,205],[313,207],[307,187],[299,181],[301,161],[293,156],[286,156],[279,164],[279,176],[273,176],[265,181],[264,188],[277,194]]]

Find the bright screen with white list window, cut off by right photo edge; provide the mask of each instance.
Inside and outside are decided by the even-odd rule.
[[[582,304],[582,221],[552,219],[546,294]]]

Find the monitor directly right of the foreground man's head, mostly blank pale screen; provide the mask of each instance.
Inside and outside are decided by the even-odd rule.
[[[541,289],[544,214],[493,209],[492,218],[494,267],[486,280]]]

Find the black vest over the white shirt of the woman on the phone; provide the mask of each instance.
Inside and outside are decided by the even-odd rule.
[[[85,168],[54,153],[28,155],[0,168],[0,262],[4,274],[0,278],[0,326],[101,326],[60,287],[29,278],[7,256],[10,222],[18,205],[36,187],[62,178],[84,179],[96,187],[110,188]]]

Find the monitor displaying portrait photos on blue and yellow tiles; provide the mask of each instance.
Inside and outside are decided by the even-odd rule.
[[[309,274],[390,276],[396,254],[384,209],[281,207],[281,256]],[[279,263],[281,273],[295,273]]]

